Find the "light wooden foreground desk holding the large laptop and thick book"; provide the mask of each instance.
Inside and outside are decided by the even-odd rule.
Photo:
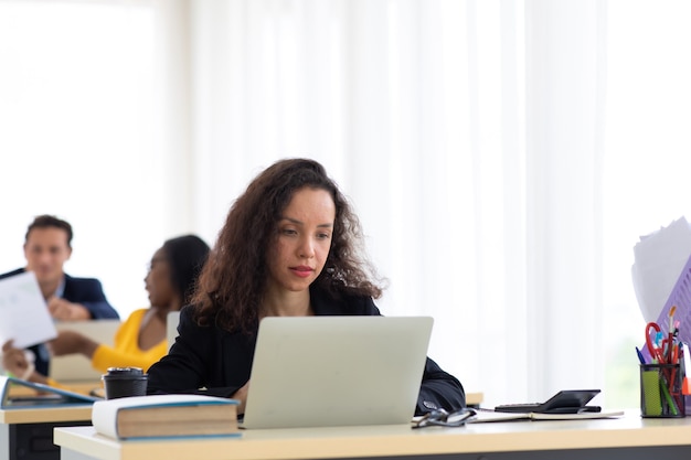
[[[62,460],[627,459],[691,458],[691,418],[511,421],[246,430],[242,438],[116,441],[93,427],[56,428]]]

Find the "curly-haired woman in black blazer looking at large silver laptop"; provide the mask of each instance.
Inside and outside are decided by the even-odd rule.
[[[362,249],[359,220],[320,163],[274,163],[231,207],[148,392],[204,388],[238,399],[244,413],[263,318],[381,314],[373,299],[382,288]],[[427,359],[416,414],[463,406],[461,384]]]

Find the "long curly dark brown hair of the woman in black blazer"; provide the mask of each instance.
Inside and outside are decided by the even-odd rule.
[[[325,168],[310,159],[279,160],[259,173],[235,201],[192,298],[200,324],[251,332],[267,280],[266,254],[296,191],[327,191],[336,205],[329,256],[313,285],[327,293],[380,298],[382,287],[363,253],[358,216]]]

